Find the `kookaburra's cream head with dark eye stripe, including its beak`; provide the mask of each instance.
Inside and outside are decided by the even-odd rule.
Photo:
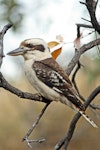
[[[42,60],[51,57],[47,43],[39,38],[24,40],[17,49],[7,54],[11,56],[22,55],[25,60]]]

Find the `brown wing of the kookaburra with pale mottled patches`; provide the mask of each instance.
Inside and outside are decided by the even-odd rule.
[[[72,84],[65,73],[65,71],[55,62],[52,58],[42,61],[35,61],[33,69],[37,77],[44,84],[67,97],[77,108],[84,110],[81,101],[78,99],[76,91],[73,89]]]

